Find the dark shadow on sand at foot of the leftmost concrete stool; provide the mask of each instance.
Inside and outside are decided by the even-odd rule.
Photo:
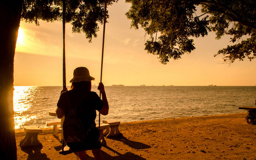
[[[47,155],[45,153],[41,153],[41,149],[43,146],[38,147],[28,147],[28,148],[21,148],[22,151],[28,154],[27,160],[50,160],[47,158]]]

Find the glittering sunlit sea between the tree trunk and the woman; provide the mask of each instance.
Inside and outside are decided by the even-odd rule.
[[[48,111],[56,109],[61,87],[14,86],[13,110],[15,129],[25,125],[45,127],[45,121],[55,120]]]

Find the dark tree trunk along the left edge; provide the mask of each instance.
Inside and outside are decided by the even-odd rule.
[[[22,0],[0,1],[0,157],[17,159],[13,118],[13,62]]]

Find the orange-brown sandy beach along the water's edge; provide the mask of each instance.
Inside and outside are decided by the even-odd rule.
[[[246,113],[122,123],[122,138],[106,139],[103,159],[256,159],[256,125]],[[23,130],[16,130],[18,159],[78,159],[60,155],[60,134],[38,134],[42,148],[21,150]],[[94,159],[87,151],[88,159]]]

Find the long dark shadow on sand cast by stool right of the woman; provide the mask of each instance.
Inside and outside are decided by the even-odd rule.
[[[122,137],[113,137],[113,138],[110,138],[110,139],[121,141],[121,142],[125,143],[125,145],[127,145],[131,148],[134,148],[134,149],[151,148],[151,146],[149,146],[149,145],[146,145],[146,144],[141,143],[141,142],[128,140],[126,137],[123,137],[123,136]]]

